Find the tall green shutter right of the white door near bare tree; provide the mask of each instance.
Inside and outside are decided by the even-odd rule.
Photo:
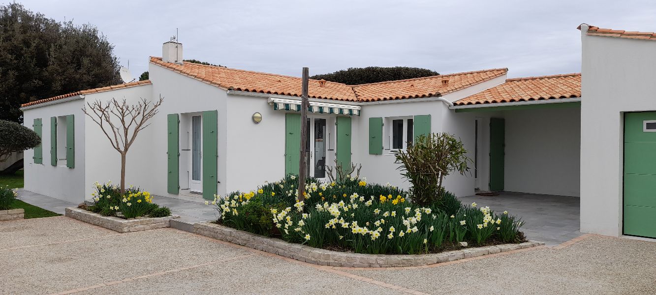
[[[203,111],[203,199],[214,199],[218,184],[218,112]]]

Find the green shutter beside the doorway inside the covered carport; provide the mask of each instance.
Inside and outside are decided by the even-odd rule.
[[[502,191],[505,162],[505,120],[490,119],[490,183],[491,191]]]

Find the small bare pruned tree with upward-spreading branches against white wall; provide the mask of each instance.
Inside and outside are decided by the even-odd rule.
[[[132,146],[139,131],[148,127],[150,120],[159,110],[164,98],[159,96],[157,102],[152,103],[146,98],[133,105],[127,104],[125,98],[116,100],[112,98],[103,104],[100,100],[89,103],[82,111],[100,126],[112,147],[121,154],[121,194],[125,193],[125,156]],[[91,113],[89,112],[91,110]]]

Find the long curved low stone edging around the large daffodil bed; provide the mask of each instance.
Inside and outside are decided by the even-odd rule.
[[[520,244],[503,244],[478,248],[465,248],[449,252],[418,255],[359,254],[337,252],[311,246],[287,243],[280,239],[264,237],[232,227],[209,222],[194,224],[194,233],[221,241],[247,246],[256,250],[293,258],[310,264],[342,267],[398,267],[438,264],[464,258],[495,254],[521,248],[544,245],[543,242],[529,241]]]

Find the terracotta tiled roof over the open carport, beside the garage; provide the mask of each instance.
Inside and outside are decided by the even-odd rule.
[[[581,73],[506,79],[506,83],[462,98],[453,104],[498,104],[581,97]]]

